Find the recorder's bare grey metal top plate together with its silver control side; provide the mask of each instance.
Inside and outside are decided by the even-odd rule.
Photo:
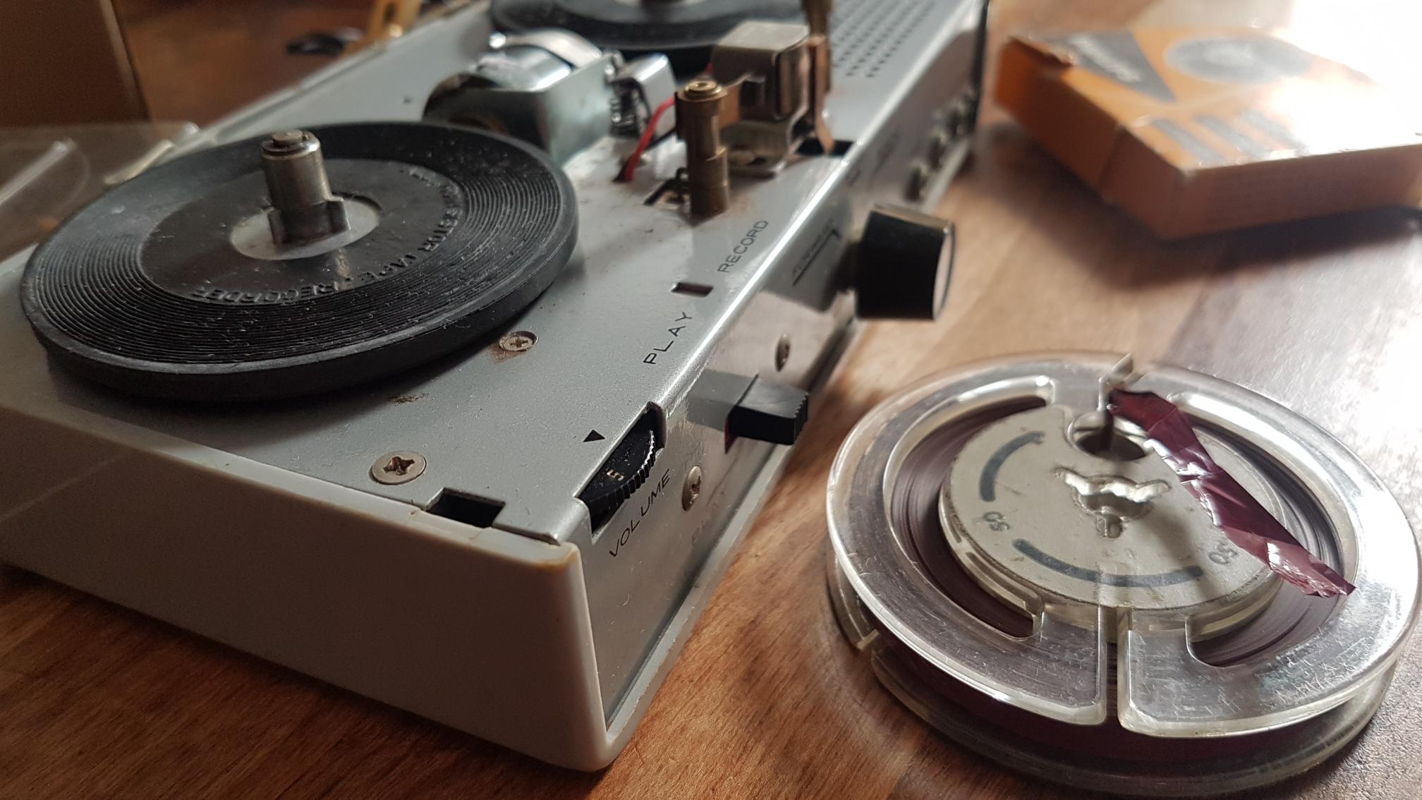
[[[903,4],[913,13],[893,23],[900,46],[866,53],[880,68],[848,75],[832,93],[830,130],[853,142],[848,154],[795,158],[774,179],[737,178],[731,209],[717,218],[693,222],[680,208],[647,202],[683,164],[675,141],[653,148],[631,184],[613,182],[616,140],[569,159],[579,253],[508,326],[532,333],[532,347],[510,352],[495,336],[388,380],[289,401],[144,401],[50,364],[16,299],[28,258],[21,252],[0,263],[7,373],[0,406],[71,427],[139,426],[417,508],[431,508],[442,494],[502,504],[493,528],[573,542],[584,552],[599,680],[611,717],[619,698],[641,690],[634,679],[653,682],[643,662],[665,645],[658,645],[661,629],[697,565],[720,547],[737,507],[754,505],[766,488],[761,473],[772,447],[728,446],[727,411],[757,373],[808,387],[829,363],[852,309],[842,290],[848,242],[870,204],[906,202],[936,121],[968,87],[980,6]],[[846,1],[842,10],[866,6],[875,3]],[[486,41],[481,11],[449,14],[223,120],[202,138],[418,120],[429,91]],[[850,44],[843,51],[853,53]],[[792,339],[793,356],[776,373],[781,336]],[[594,541],[577,494],[648,409],[664,420],[663,451],[647,484]],[[373,464],[392,453],[421,456],[419,475],[375,481]],[[684,515],[681,481],[698,463],[702,498]]]

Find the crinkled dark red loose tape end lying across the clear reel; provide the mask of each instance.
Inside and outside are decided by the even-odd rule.
[[[1150,391],[1116,389],[1109,394],[1109,410],[1140,426],[1150,438],[1160,443],[1167,453],[1166,464],[1204,505],[1234,547],[1258,558],[1276,575],[1307,595],[1331,598],[1352,592],[1352,584],[1332,567],[1314,558],[1267,508],[1210,458],[1194,436],[1189,417],[1175,403]]]

